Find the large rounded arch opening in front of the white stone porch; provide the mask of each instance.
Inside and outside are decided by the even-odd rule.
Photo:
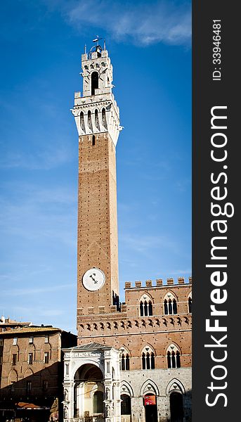
[[[74,417],[104,414],[103,373],[98,366],[84,364],[74,375]]]

